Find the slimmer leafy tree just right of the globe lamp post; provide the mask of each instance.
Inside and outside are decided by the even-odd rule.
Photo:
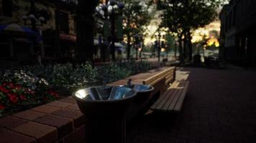
[[[123,0],[124,6],[124,34],[127,36],[127,59],[130,57],[132,37],[142,34],[145,25],[150,22],[152,14],[148,11],[150,4],[147,1]]]

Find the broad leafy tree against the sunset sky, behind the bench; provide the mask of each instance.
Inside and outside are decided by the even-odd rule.
[[[222,0],[158,0],[157,9],[163,11],[163,25],[178,34],[180,59],[192,59],[191,32],[216,19],[216,9]],[[183,41],[183,46],[182,46]],[[183,55],[183,56],[182,56]]]

